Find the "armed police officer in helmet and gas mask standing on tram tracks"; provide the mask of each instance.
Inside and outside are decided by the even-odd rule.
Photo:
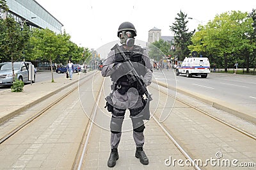
[[[123,22],[118,27],[117,36],[122,44],[120,48],[124,51],[127,58],[130,59],[134,69],[148,86],[152,80],[152,65],[145,49],[134,45],[134,36],[136,29],[131,22]],[[108,58],[104,61],[102,67],[102,76],[110,76],[113,82],[112,93],[106,99],[108,111],[111,112],[111,153],[108,159],[108,166],[114,167],[118,160],[118,144],[122,135],[122,123],[125,117],[125,111],[129,109],[132,120],[133,138],[136,144],[135,157],[140,159],[141,164],[147,165],[148,158],[143,151],[145,125],[143,122],[143,112],[145,108],[145,99],[140,93],[140,87],[136,81],[131,81],[131,70],[126,65],[124,58],[116,50],[111,50]],[[149,115],[149,109],[148,109]]]

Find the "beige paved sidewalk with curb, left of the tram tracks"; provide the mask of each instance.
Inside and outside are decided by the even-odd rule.
[[[58,91],[77,83],[79,81],[79,77],[82,79],[92,73],[94,72],[86,74],[80,73],[79,75],[74,73],[72,81],[67,79],[63,74],[63,77],[54,79],[55,82],[51,82],[51,79],[49,78],[49,81],[35,82],[32,85],[27,84],[24,86],[24,91],[20,93],[11,92],[11,89],[1,91],[0,123],[3,123],[20,112],[28,109],[31,105],[35,105],[42,100],[51,97],[54,93],[58,93]]]

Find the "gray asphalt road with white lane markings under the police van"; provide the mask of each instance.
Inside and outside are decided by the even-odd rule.
[[[199,76],[175,76],[171,70],[154,70],[154,76],[156,81],[167,82],[169,86],[241,105],[254,111],[256,109],[256,75],[210,73],[204,79]]]

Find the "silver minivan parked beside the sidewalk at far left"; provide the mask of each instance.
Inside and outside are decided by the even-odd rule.
[[[19,81],[28,82],[29,81],[29,65],[30,62],[13,62],[13,69],[15,74],[15,79]],[[33,70],[34,81],[36,80],[36,71]],[[13,72],[12,72],[12,62],[0,63],[0,85],[11,85],[13,82]]]

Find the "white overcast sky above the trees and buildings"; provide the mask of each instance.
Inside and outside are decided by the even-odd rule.
[[[63,25],[72,42],[81,47],[98,49],[118,40],[117,31],[122,22],[129,21],[137,30],[136,40],[147,42],[148,31],[161,29],[162,36],[172,36],[170,27],[180,10],[193,18],[190,30],[202,22],[214,19],[216,14],[231,10],[252,12],[255,0],[36,0]]]

